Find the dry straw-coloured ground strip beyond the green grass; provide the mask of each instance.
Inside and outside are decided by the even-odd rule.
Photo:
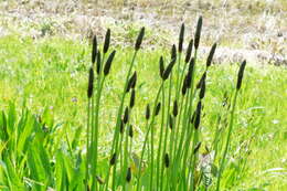
[[[206,56],[209,46],[217,42],[216,63],[240,62],[245,57],[254,64],[287,65],[287,4],[284,1],[269,0],[262,4],[246,0],[236,3],[117,2],[1,1],[0,36],[17,33],[34,39],[46,35],[91,39],[96,34],[103,39],[110,28],[114,43],[126,46],[145,25],[146,47],[168,47],[177,43],[182,22],[187,42],[193,38],[196,19],[203,15],[201,55]]]

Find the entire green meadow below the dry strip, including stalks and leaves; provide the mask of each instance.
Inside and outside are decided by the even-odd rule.
[[[286,190],[286,66],[142,30],[0,38],[0,190]]]

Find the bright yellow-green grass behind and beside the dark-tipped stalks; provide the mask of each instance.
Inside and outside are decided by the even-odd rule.
[[[102,95],[105,108],[100,109],[99,162],[103,169],[107,168],[106,161],[109,159],[120,92],[134,52],[131,47],[118,46],[116,50],[111,72],[106,78]],[[135,125],[135,140],[142,141],[134,141],[132,150],[138,155],[142,147],[144,132],[147,130],[145,107],[148,103],[152,103],[160,85],[158,70],[160,55],[168,57],[169,51],[166,49],[151,51],[144,47],[138,53],[135,63],[138,83],[132,124]],[[78,152],[85,148],[86,140],[86,88],[89,65],[91,45],[86,41],[59,38],[32,40],[19,35],[0,39],[0,108],[6,116],[9,116],[11,135],[17,136],[21,129],[31,126],[35,131],[31,135],[28,132],[32,130],[22,134],[29,137],[28,140],[33,141],[32,144],[26,141],[24,146],[18,144],[15,153],[11,153],[12,157],[7,156],[6,148],[13,148],[17,144],[12,142],[8,147],[4,139],[1,139],[0,188],[7,190],[4,188],[9,181],[4,178],[6,169],[10,172],[11,182],[18,182],[11,185],[13,189],[23,187],[22,182],[25,182],[25,187],[31,184],[40,189],[40,184],[32,181],[38,180],[50,181],[51,185],[61,190],[66,180],[76,180],[77,170],[81,171],[84,168],[77,167],[76,161],[81,161]],[[204,66],[204,62],[199,61],[200,74],[203,73]],[[204,152],[204,146],[209,148],[212,146],[216,118],[222,114],[224,94],[226,92],[230,97],[232,89],[235,88],[237,70],[237,63],[212,65],[209,70],[200,153]],[[232,157],[232,160],[227,163],[222,179],[226,190],[284,190],[287,188],[286,81],[284,66],[247,64],[235,110],[233,140],[228,152],[228,158]],[[14,105],[17,110],[13,110]],[[23,105],[29,108],[29,112],[24,112]],[[42,121],[39,121],[34,115],[41,116]],[[25,116],[26,120],[20,120]],[[222,119],[226,117],[223,115]],[[18,123],[25,124],[23,126],[25,128],[20,125],[18,130],[13,131]],[[3,125],[3,118],[0,119],[1,124]],[[49,134],[41,130],[43,124],[50,129]],[[158,129],[160,127],[159,119],[156,127]],[[43,139],[44,141],[38,145]],[[247,147],[248,144],[249,147]],[[35,155],[34,151],[39,150],[41,152]],[[7,158],[10,158],[11,163],[7,162],[9,161]],[[245,159],[246,168],[237,174]],[[54,166],[51,161],[56,161],[56,165]],[[34,162],[46,163],[34,166]],[[61,165],[65,168],[61,168]],[[281,170],[276,171],[276,168],[281,168]],[[39,173],[31,173],[33,170]],[[216,182],[215,179],[213,182]]]

